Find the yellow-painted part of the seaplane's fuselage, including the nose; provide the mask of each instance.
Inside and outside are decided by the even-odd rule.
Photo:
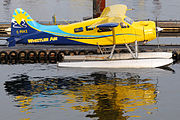
[[[91,26],[93,23],[98,21],[102,21],[105,18],[96,18],[91,19],[88,21],[78,22],[69,25],[59,25],[58,27],[67,33],[70,34],[77,34],[77,35],[94,35],[100,37],[79,37],[78,39],[69,38],[70,40],[85,43],[85,44],[92,44],[92,45],[113,45],[113,35],[112,29],[101,30],[100,28],[87,28]],[[122,27],[120,24],[115,27],[115,34],[116,34],[116,44],[125,44],[125,43],[133,43],[137,41],[151,41],[156,38],[156,26],[155,22],[153,21],[139,21],[133,22],[132,24],[128,24],[124,20],[121,21],[124,24]],[[81,30],[78,30],[81,28]]]

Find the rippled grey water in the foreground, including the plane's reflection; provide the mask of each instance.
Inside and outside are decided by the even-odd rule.
[[[179,120],[180,64],[168,69],[0,66],[1,120]]]

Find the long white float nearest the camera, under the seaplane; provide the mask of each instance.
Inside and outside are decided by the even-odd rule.
[[[59,67],[69,68],[157,68],[168,66],[173,59],[131,59],[111,61],[59,62]]]

